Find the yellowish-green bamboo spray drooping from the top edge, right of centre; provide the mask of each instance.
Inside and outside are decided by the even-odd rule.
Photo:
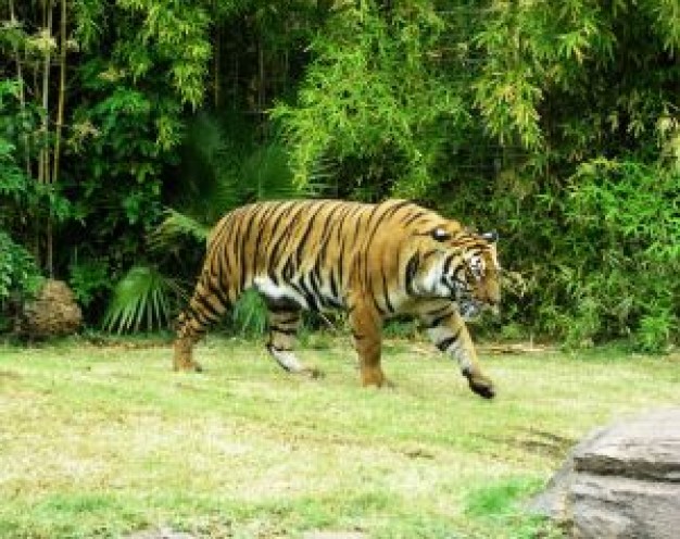
[[[584,62],[603,68],[614,42],[605,11],[590,1],[498,5],[475,39],[486,57],[475,100],[487,130],[502,143],[542,150],[547,91],[582,91]]]

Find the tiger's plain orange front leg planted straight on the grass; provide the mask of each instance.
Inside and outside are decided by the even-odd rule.
[[[363,303],[350,311],[350,327],[354,339],[354,348],[358,354],[363,386],[389,386],[380,366],[382,344],[382,318],[379,313]]]

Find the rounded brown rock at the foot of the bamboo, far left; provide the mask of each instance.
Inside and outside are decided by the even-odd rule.
[[[72,335],[81,322],[83,313],[68,285],[48,279],[36,298],[23,306],[15,330],[29,339],[43,339]]]

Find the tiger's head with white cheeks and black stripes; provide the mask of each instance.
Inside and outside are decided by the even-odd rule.
[[[501,287],[495,233],[475,234],[448,221],[418,237],[417,258],[410,261],[416,265],[411,268],[416,293],[450,298],[466,319],[484,309],[498,312]]]

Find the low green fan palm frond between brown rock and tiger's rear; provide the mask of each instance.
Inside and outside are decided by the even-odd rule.
[[[155,267],[135,266],[115,286],[103,327],[118,334],[165,327],[171,318],[172,296],[176,292],[175,280]]]

